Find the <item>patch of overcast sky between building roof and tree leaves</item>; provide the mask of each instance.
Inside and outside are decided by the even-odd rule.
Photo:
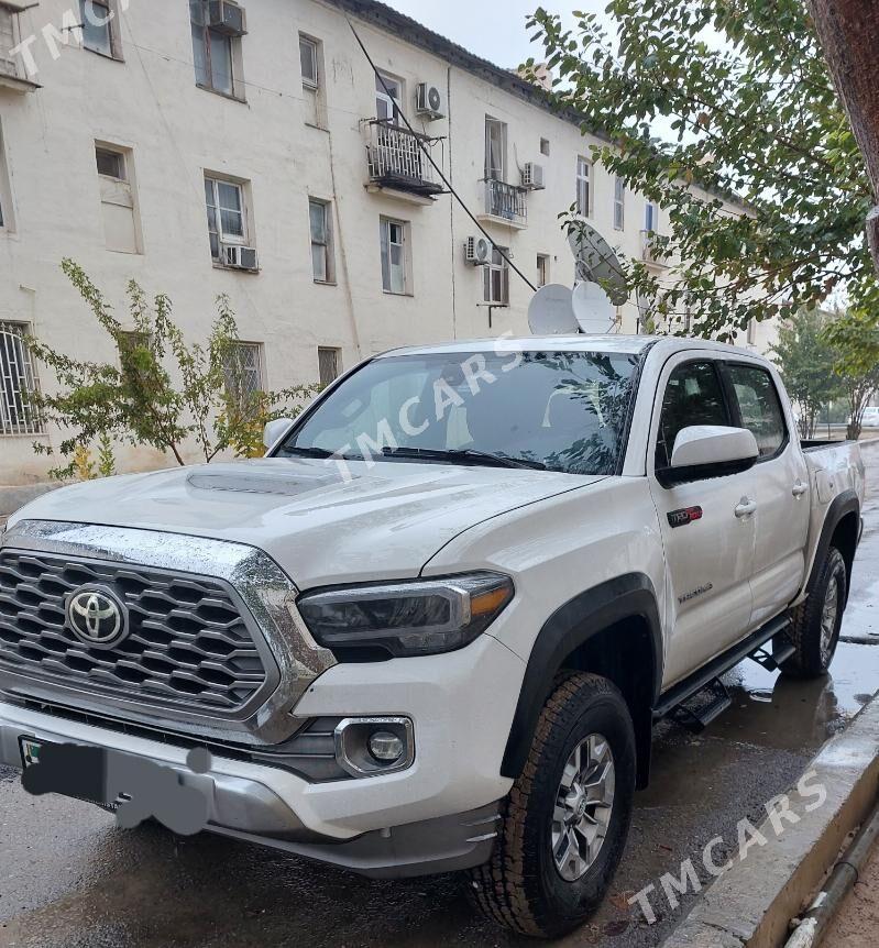
[[[424,23],[449,40],[490,59],[497,66],[512,68],[528,56],[540,59],[542,46],[528,43],[530,31],[525,20],[541,5],[541,0],[385,0],[391,7]],[[607,0],[568,0],[557,3],[543,0],[547,10],[564,12],[568,25],[573,25],[572,9],[602,13]]]

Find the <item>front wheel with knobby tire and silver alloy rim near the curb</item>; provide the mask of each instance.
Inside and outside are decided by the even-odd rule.
[[[476,906],[523,935],[554,938],[581,925],[619,864],[635,771],[631,717],[616,686],[585,673],[559,679],[502,806],[492,859],[471,872]]]

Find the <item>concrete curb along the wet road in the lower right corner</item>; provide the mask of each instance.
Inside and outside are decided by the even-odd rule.
[[[806,768],[809,785],[827,798],[812,813],[807,796],[789,792],[801,816],[778,836],[769,819],[759,829],[768,844],[736,859],[696,902],[662,948],[779,948],[790,919],[811,903],[833,869],[846,837],[876,805],[879,793],[879,697],[849,727],[831,738]],[[811,803],[814,804],[814,798]]]

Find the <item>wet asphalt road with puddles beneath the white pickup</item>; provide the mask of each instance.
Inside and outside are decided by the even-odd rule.
[[[879,444],[865,445],[873,485],[844,635],[879,641]],[[799,778],[816,749],[879,690],[879,643],[842,644],[824,681],[799,683],[752,662],[733,670],[733,707],[703,735],[662,725],[650,789],[636,798],[627,855],[591,925],[563,943],[657,946],[684,917],[658,904],[647,926],[627,897],[713,837],[735,848],[736,824]],[[375,882],[259,847],[161,827],[118,830],[110,815],[34,798],[0,768],[0,946],[534,945],[471,913],[454,877]],[[723,861],[723,850],[715,853]]]

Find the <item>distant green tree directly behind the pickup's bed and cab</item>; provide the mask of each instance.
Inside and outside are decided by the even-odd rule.
[[[779,327],[772,346],[784,387],[800,416],[800,434],[814,438],[818,412],[843,394],[834,374],[836,352],[823,334],[829,315],[802,309]]]

